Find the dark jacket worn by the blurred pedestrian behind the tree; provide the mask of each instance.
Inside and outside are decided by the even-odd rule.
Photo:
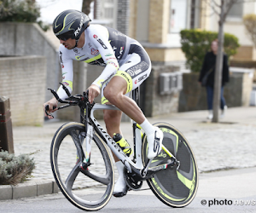
[[[212,72],[209,74],[207,78],[207,86],[214,86],[214,73],[215,73],[215,63],[216,63],[217,55],[214,55],[213,52],[207,52],[203,66],[201,67],[200,77],[198,79],[199,82],[202,81],[202,78],[207,74],[207,72],[213,68]],[[222,86],[230,80],[230,69],[228,65],[228,57],[224,54],[223,58],[223,69],[222,69]]]

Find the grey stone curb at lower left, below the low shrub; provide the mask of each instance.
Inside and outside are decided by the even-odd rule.
[[[28,181],[13,185],[0,185],[0,200],[21,199],[44,194],[58,193],[55,181]]]

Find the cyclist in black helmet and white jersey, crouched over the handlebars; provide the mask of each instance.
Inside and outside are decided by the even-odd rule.
[[[59,14],[53,22],[55,36],[60,39],[59,59],[62,68],[62,83],[70,92],[73,90],[73,60],[84,61],[92,65],[105,66],[102,74],[90,85],[89,101],[94,101],[102,89],[102,104],[113,104],[120,111],[105,110],[104,121],[108,134],[120,133],[122,112],[140,124],[148,137],[148,158],[160,153],[163,133],[145,118],[136,102],[129,98],[131,90],[136,89],[148,78],[151,62],[143,46],[131,37],[112,28],[90,25],[90,18],[77,10],[68,9]],[[61,99],[67,94],[61,87],[57,94]],[[54,98],[44,103],[49,112],[58,101]],[[52,118],[48,116],[48,118]],[[124,164],[113,156],[119,171],[113,195],[122,197],[127,193],[123,175]]]

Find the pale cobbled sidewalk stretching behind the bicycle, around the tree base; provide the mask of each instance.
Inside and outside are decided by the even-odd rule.
[[[148,118],[148,120],[152,124],[156,122],[172,124],[183,132],[193,148],[200,172],[256,166],[256,107],[230,108],[225,118],[218,124],[207,121],[207,111],[172,113],[157,118]],[[32,173],[34,177],[29,182],[37,186],[33,187],[37,193],[33,192],[32,196],[38,195],[38,188],[42,190],[44,186],[48,187],[46,190],[48,193],[56,192],[55,180],[49,163],[49,147],[55,131],[65,123],[51,121],[46,122],[44,127],[13,128],[16,155],[40,150],[33,155],[36,169]],[[100,123],[104,126],[103,121]],[[125,139],[131,143],[131,122],[123,122],[121,129]],[[42,181],[44,184],[40,184]],[[22,186],[20,184],[17,187]],[[52,186],[51,190],[49,186]],[[23,188],[26,189],[26,187]],[[2,190],[3,187],[0,186],[0,194],[3,194]],[[13,192],[12,198],[16,198],[14,189],[9,189],[9,191]],[[24,196],[29,197],[26,193]],[[0,196],[0,199],[11,198]]]

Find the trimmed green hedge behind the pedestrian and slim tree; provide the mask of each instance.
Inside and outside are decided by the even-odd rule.
[[[186,66],[192,72],[200,72],[204,57],[211,49],[211,43],[218,38],[218,32],[201,30],[183,30],[181,34],[182,50],[186,56]],[[232,34],[224,33],[224,52],[230,57],[236,55],[239,47],[238,38]]]

